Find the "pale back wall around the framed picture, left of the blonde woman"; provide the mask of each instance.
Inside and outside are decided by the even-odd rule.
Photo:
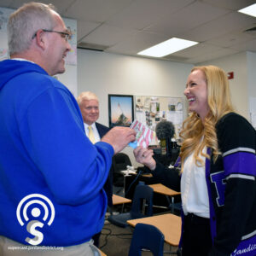
[[[78,49],[78,90],[96,93],[100,101],[98,121],[108,126],[108,94],[184,97],[193,65],[128,55]],[[132,148],[123,150],[137,164]]]

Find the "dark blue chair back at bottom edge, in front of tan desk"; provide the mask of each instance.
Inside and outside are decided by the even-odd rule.
[[[133,231],[129,256],[141,256],[148,249],[154,256],[163,256],[165,236],[153,225],[139,223]]]

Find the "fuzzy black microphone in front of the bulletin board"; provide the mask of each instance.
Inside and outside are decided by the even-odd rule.
[[[155,126],[156,137],[160,140],[161,154],[171,154],[170,143],[175,133],[175,127],[172,122],[160,121]]]

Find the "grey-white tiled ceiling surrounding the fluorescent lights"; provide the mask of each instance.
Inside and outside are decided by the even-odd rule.
[[[17,9],[27,0],[1,0]],[[40,0],[49,3],[49,0]],[[51,0],[61,16],[77,20],[81,47],[137,52],[172,37],[200,42],[163,57],[198,63],[241,51],[256,52],[256,18],[237,13],[255,0]],[[96,48],[98,49],[98,48]]]

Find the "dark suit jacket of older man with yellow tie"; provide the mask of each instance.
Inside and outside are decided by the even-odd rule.
[[[97,122],[95,124],[96,124],[97,131],[98,131],[101,138],[110,130],[110,128],[108,128],[105,125],[101,125]],[[109,170],[108,179],[106,180],[106,183],[105,183],[103,189],[106,191],[106,194],[107,194],[107,197],[108,197],[108,207],[112,207],[113,206],[113,203],[112,203],[112,195],[113,195],[113,170],[112,170],[112,166]]]

